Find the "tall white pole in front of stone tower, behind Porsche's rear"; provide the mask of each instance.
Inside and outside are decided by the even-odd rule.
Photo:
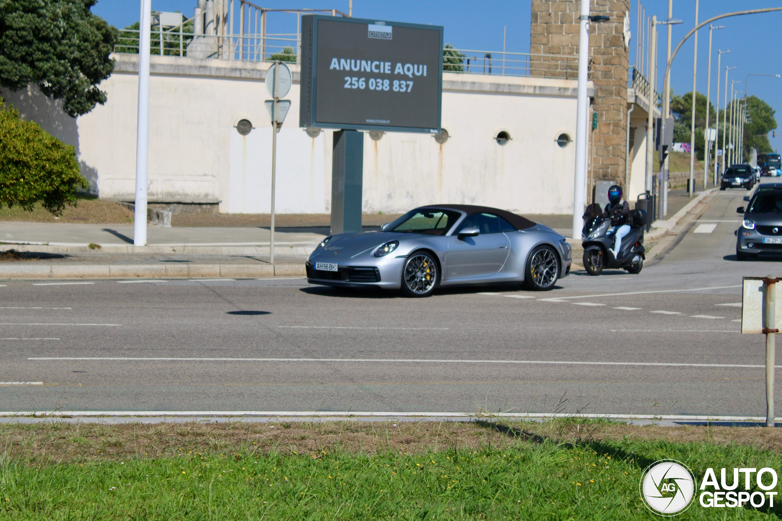
[[[581,0],[579,18],[579,84],[576,104],[576,175],[573,186],[573,241],[581,236],[583,228],[584,188],[587,182],[587,73],[589,65],[589,12],[590,0]]]

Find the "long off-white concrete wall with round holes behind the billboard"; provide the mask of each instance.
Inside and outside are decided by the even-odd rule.
[[[76,120],[35,88],[0,95],[77,147],[82,173],[99,196],[132,200],[138,56],[114,57],[115,72],[100,86],[106,105]],[[152,56],[150,202],[219,200],[225,213],[269,211],[267,66]],[[291,68],[292,106],[278,134],[276,210],[328,213],[332,131],[310,138],[298,128],[298,68]],[[475,203],[522,214],[572,212],[575,146],[560,148],[555,139],[575,138],[575,81],[444,74],[443,85],[446,143],[425,134],[386,133],[376,142],[365,135],[364,211]],[[246,137],[235,130],[240,119],[253,124]],[[505,146],[493,139],[500,130],[511,135]]]

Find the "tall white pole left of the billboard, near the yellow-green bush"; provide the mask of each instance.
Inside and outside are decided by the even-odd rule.
[[[133,245],[146,246],[147,168],[149,167],[149,39],[152,0],[142,0],[138,33],[138,122],[136,124],[136,194]]]

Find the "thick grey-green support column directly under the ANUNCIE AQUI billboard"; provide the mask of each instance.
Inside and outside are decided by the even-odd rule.
[[[364,132],[334,132],[331,234],[361,232],[364,189]]]

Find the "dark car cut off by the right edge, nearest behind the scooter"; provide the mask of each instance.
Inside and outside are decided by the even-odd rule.
[[[737,233],[738,260],[757,257],[760,253],[782,253],[782,183],[760,185],[748,206],[738,207],[736,211],[744,214]]]

